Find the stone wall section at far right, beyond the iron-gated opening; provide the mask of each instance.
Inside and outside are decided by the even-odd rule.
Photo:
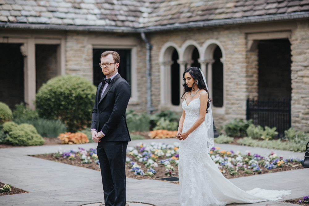
[[[309,23],[299,21],[291,36],[292,127],[309,131]]]

